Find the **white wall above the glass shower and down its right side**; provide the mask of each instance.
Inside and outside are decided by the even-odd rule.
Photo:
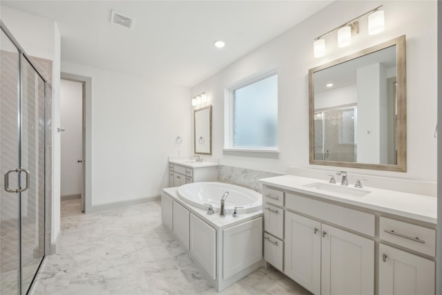
[[[60,32],[57,23],[6,6],[0,6],[1,20],[32,57],[52,60],[52,127],[59,122]],[[59,144],[60,137],[52,128],[52,242],[60,230]]]

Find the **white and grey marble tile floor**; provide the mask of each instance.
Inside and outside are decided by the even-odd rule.
[[[30,294],[309,294],[271,267],[216,292],[160,212],[160,202],[145,202],[85,215],[79,200],[62,201],[61,245]]]

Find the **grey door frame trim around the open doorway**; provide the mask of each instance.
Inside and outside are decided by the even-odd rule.
[[[60,73],[60,78],[84,84],[83,95],[83,196],[84,213],[92,209],[92,78],[70,73]]]

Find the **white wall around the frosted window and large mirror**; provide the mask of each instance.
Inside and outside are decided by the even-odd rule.
[[[323,33],[383,5],[385,30],[367,34],[367,21],[347,48],[336,35],[326,37],[327,54],[316,59],[313,41]],[[327,21],[324,21],[327,20]],[[213,156],[221,164],[287,172],[289,166],[324,169],[309,164],[308,70],[328,61],[389,41],[407,38],[407,172],[347,169],[349,173],[436,181],[436,1],[336,1],[268,44],[254,50],[217,75],[192,88],[213,105]],[[223,155],[224,91],[241,79],[278,69],[278,159]],[[334,167],[327,167],[334,169]],[[338,168],[336,168],[338,169]]]

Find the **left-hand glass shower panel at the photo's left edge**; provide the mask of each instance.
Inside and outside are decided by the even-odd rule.
[[[20,196],[3,175],[19,165],[19,50],[0,30],[0,294],[20,292]],[[18,187],[11,173],[10,187]]]

